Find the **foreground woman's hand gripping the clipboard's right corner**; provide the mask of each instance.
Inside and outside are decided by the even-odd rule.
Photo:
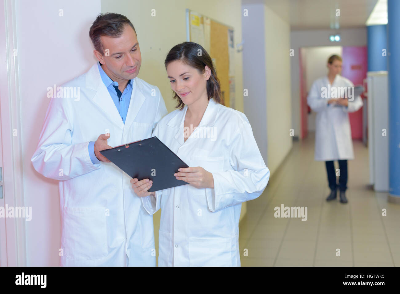
[[[174,173],[178,180],[185,181],[196,188],[214,188],[214,177],[212,173],[202,167],[182,167],[180,173]]]

